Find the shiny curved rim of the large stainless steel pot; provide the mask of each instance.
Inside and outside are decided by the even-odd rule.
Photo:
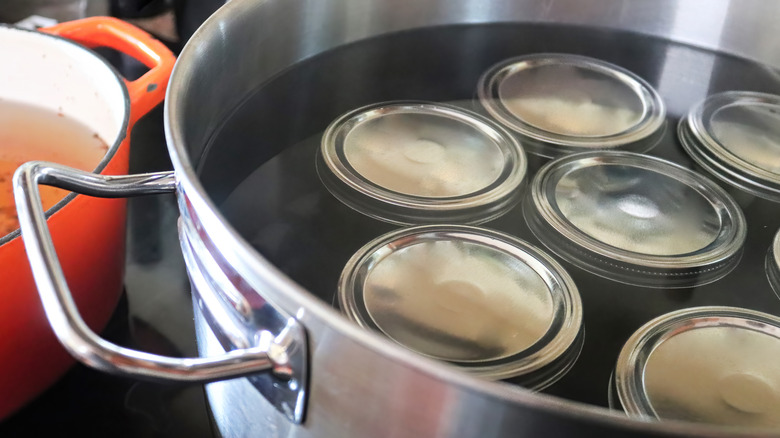
[[[667,420],[664,422],[641,421],[628,418],[621,412],[610,410],[606,407],[566,400],[548,394],[534,393],[516,385],[486,381],[476,376],[468,375],[463,371],[452,369],[450,366],[411,352],[385,339],[381,334],[362,329],[340,314],[338,309],[334,309],[328,303],[314,297],[304,287],[265,259],[230,225],[217,208],[217,205],[207,195],[205,188],[198,179],[195,167],[190,161],[183,125],[176,123],[176,120],[180,117],[179,114],[184,112],[180,101],[185,100],[184,96],[187,94],[187,87],[179,85],[179,82],[184,81],[184,79],[179,78],[182,76],[186,77],[188,72],[194,69],[191,64],[197,63],[198,58],[202,58],[203,53],[200,49],[202,44],[210,39],[209,34],[213,30],[212,28],[219,28],[222,21],[229,21],[231,17],[243,16],[245,10],[255,6],[255,3],[257,2],[227,2],[193,34],[182,49],[171,73],[170,83],[166,91],[163,115],[166,144],[177,181],[177,196],[180,199],[180,210],[182,209],[182,202],[189,203],[192,206],[192,209],[198,213],[198,221],[203,227],[203,232],[208,233],[212,241],[220,242],[220,250],[225,260],[231,264],[237,273],[245,276],[249,284],[262,284],[265,289],[276,290],[279,295],[285,297],[285,300],[294,302],[296,308],[291,313],[296,318],[302,319],[303,317],[314,315],[323,320],[340,335],[349,338],[350,341],[372,349],[388,360],[401,362],[406,366],[412,367],[432,380],[442,381],[460,390],[481,393],[488,397],[543,411],[553,416],[598,423],[607,427],[619,427],[626,432],[723,438],[735,435],[743,437],[777,436],[767,430],[752,429],[745,431],[736,427],[713,426],[678,420]],[[264,7],[272,2],[261,1],[260,3],[262,5],[259,7]],[[441,23],[437,23],[437,25],[441,25]],[[216,30],[214,32],[218,33]],[[263,296],[263,299],[270,303],[275,301],[266,296]],[[302,323],[304,326],[306,325],[305,321],[302,321]],[[607,388],[605,388],[605,393],[606,391]]]

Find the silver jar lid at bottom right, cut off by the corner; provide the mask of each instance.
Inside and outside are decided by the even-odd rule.
[[[780,426],[780,318],[736,307],[695,307],[634,333],[615,368],[631,417],[727,426]]]

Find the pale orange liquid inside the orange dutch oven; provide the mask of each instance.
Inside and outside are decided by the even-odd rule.
[[[11,180],[16,168],[33,160],[93,170],[108,145],[82,123],[61,113],[0,99],[0,237],[19,227]],[[41,186],[43,208],[67,191]]]

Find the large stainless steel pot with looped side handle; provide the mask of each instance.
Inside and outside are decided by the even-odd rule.
[[[248,93],[350,42],[445,24],[560,23],[629,30],[778,68],[778,13],[780,4],[758,0],[230,2],[192,37],[171,78],[165,122],[173,174],[101,177],[41,163],[17,173],[22,231],[47,316],[70,352],[95,368],[222,380],[207,392],[225,436],[731,436],[735,431],[640,422],[486,382],[366,332],[255,251],[195,169],[209,136]],[[203,358],[129,351],[82,323],[48,240],[39,183],[109,197],[176,191]]]

